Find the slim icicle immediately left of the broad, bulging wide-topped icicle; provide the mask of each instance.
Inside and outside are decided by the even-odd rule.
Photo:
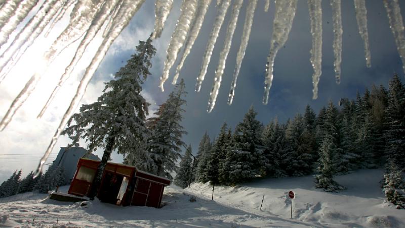
[[[250,0],[248,8],[246,9],[246,16],[245,16],[245,24],[242,33],[242,40],[240,41],[239,50],[237,51],[236,55],[236,66],[233,72],[233,78],[231,83],[231,89],[228,95],[228,104],[231,105],[233,101],[233,97],[235,96],[235,88],[236,88],[236,81],[239,75],[240,66],[242,64],[242,60],[245,57],[246,48],[248,47],[248,42],[250,38],[250,32],[252,29],[253,24],[253,17],[255,15],[255,10],[257,6],[257,0]]]

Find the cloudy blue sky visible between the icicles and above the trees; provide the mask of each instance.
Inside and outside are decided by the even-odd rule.
[[[170,78],[165,84],[165,92],[160,92],[158,88],[159,78],[163,70],[163,63],[166,58],[166,49],[170,37],[175,28],[176,21],[180,15],[181,1],[174,1],[173,10],[166,22],[162,36],[154,40],[153,44],[157,49],[155,58],[152,61],[152,75],[145,81],[143,86],[144,94],[152,105],[150,112],[156,109],[156,105],[163,103],[167,95],[173,90],[171,80],[174,76],[172,69]],[[244,1],[237,27],[232,40],[232,47],[228,55],[226,68],[223,75],[221,89],[218,94],[217,103],[211,113],[207,113],[208,99],[214,80],[214,72],[218,65],[219,52],[224,43],[225,30],[229,20],[230,10],[221,28],[220,36],[215,45],[211,63],[208,68],[206,79],[201,86],[199,93],[194,92],[195,78],[198,76],[200,63],[203,59],[204,50],[211,32],[212,24],[216,14],[216,1],[213,0],[203,24],[203,28],[188,56],[180,78],[184,78],[188,95],[186,97],[187,106],[184,113],[182,125],[188,132],[183,137],[184,142],[191,144],[193,152],[196,153],[198,142],[207,131],[211,138],[218,134],[220,125],[227,122],[234,128],[242,120],[245,112],[251,105],[254,105],[258,112],[257,118],[267,124],[277,117],[280,122],[285,122],[288,118],[293,118],[295,113],[303,112],[305,106],[310,104],[317,112],[321,106],[326,105],[329,100],[337,104],[341,97],[354,98],[356,91],[360,93],[365,87],[372,84],[383,84],[387,86],[388,80],[394,72],[399,73],[403,79],[402,63],[396,51],[392,32],[388,25],[386,11],[382,1],[366,1],[368,9],[368,29],[371,47],[372,67],[366,68],[364,57],[363,41],[358,33],[353,1],[342,1],[343,18],[343,53],[342,53],[342,80],[341,84],[335,83],[335,73],[333,68],[333,28],[332,11],[330,1],[322,1],[322,75],[319,82],[318,99],[312,100],[312,67],[310,64],[311,34],[310,21],[308,15],[307,1],[298,1],[296,17],[286,45],[281,48],[276,56],[274,64],[274,80],[270,90],[269,104],[263,105],[263,81],[265,75],[265,64],[270,48],[270,38],[272,34],[272,21],[274,18],[274,2],[270,4],[268,13],[263,11],[265,1],[259,0],[252,27],[252,33],[245,59],[240,69],[234,102],[227,104],[227,97],[230,82],[235,66],[236,53],[240,44],[240,36],[245,18],[245,11],[248,1]],[[402,11],[405,11],[405,2],[399,1]],[[231,9],[231,8],[230,8]],[[104,61],[94,75],[83,103],[95,101],[101,95],[103,82],[111,79],[120,67],[124,66],[130,55],[134,52],[138,40],[146,40],[153,31],[154,25],[154,2],[145,1],[142,8],[134,16],[130,25],[121,33],[108,51]],[[62,26],[62,25],[61,25]],[[182,51],[180,51],[180,55]],[[177,66],[176,61],[175,66]],[[78,71],[76,74],[80,75]],[[72,77],[73,81],[68,83],[70,88],[77,85],[79,76]],[[75,82],[76,81],[76,82]],[[10,88],[7,82],[0,84],[2,88]],[[76,83],[76,84],[75,84]],[[67,88],[69,88],[67,86]],[[17,86],[18,87],[18,86]],[[66,89],[68,99],[72,96]],[[1,105],[0,116],[6,112],[6,106],[10,105],[15,92],[19,88],[9,89],[0,96]],[[41,98],[42,99],[42,98]],[[61,102],[61,106],[51,107],[51,113],[42,121],[32,118],[36,116],[37,103],[43,99],[32,98],[22,109],[12,124],[5,131],[0,133],[0,144],[4,147],[0,154],[8,153],[42,153],[46,150],[50,138],[56,129],[57,123],[67,104]],[[62,99],[62,98],[61,98]],[[35,109],[35,111],[33,111]],[[60,146],[66,146],[68,138],[61,137],[54,149],[53,154],[59,151]],[[84,142],[82,146],[86,146]],[[100,155],[102,151],[96,152]],[[2,158],[2,157],[0,157]],[[11,158],[13,158],[11,156]],[[114,161],[119,162],[122,158],[113,155]],[[13,159],[10,159],[13,160]],[[0,162],[7,161],[0,159]],[[14,161],[14,160],[13,160]],[[49,160],[51,161],[51,159]],[[35,159],[26,162],[3,162],[0,166],[0,182],[8,178],[11,172],[17,168],[23,168],[24,173],[34,169],[37,164]],[[20,167],[21,166],[21,167]],[[25,172],[26,171],[26,172]]]

